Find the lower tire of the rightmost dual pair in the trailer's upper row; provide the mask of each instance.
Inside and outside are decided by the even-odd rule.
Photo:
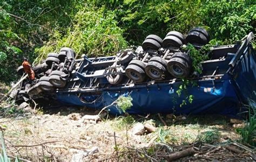
[[[187,34],[186,42],[192,45],[206,45],[208,43],[204,34],[198,31],[192,31]]]

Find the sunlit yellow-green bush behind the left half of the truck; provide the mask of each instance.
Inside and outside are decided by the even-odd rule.
[[[117,26],[114,17],[112,11],[87,6],[77,12],[65,36],[55,30],[48,43],[36,52],[45,56],[49,52],[58,52],[61,47],[70,47],[77,54],[86,53],[88,57],[112,54],[127,46],[123,30]]]

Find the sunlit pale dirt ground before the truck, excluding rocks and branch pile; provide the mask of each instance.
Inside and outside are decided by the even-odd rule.
[[[8,155],[23,160],[133,161],[129,159],[134,157],[132,150],[136,150],[133,154],[138,154],[138,149],[146,148],[143,158],[147,159],[147,156],[157,152],[153,147],[157,144],[167,144],[172,150],[198,140],[216,145],[240,138],[229,123],[230,119],[223,116],[161,115],[165,126],[158,115],[107,115],[95,123],[81,119],[84,115],[98,113],[91,109],[62,107],[34,110],[28,105],[24,107],[10,103],[2,104],[0,118]],[[131,129],[136,123],[150,123],[156,126],[157,130],[152,133],[145,132],[143,135],[133,135]],[[131,155],[127,156],[127,153]],[[163,159],[163,154],[168,153],[170,149],[165,149],[158,153],[158,159],[148,159],[160,160]],[[116,159],[115,156],[120,159]]]

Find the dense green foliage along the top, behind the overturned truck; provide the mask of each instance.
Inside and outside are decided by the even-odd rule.
[[[255,33],[255,1],[0,0],[0,81],[15,80],[22,57],[30,62],[68,46],[78,54],[110,55],[139,45],[148,34],[203,26],[212,39],[232,43]]]

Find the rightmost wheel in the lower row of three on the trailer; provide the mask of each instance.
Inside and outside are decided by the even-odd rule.
[[[191,67],[181,58],[171,58],[167,62],[167,70],[174,78],[187,78],[191,73]]]

